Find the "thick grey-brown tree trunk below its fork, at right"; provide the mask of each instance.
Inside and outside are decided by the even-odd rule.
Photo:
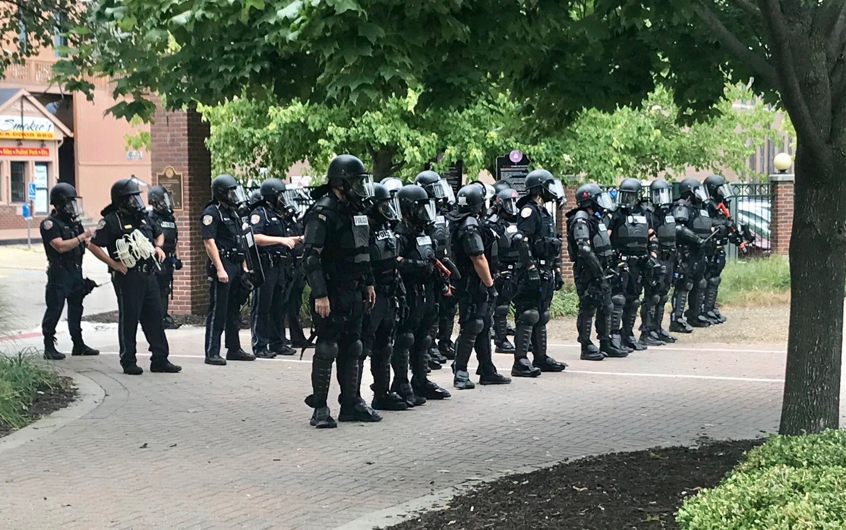
[[[781,434],[836,429],[840,418],[846,145],[828,147],[830,156],[813,156],[799,138]]]

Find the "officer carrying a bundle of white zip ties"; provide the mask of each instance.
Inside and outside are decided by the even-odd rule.
[[[162,299],[154,270],[165,259],[164,235],[151,221],[135,178],[122,178],[112,185],[112,204],[91,238],[91,254],[108,265],[118,295],[118,343],[124,374],[144,372],[135,358],[138,325],[150,345],[151,372],[179,372],[168,361],[168,339],[162,325]],[[104,251],[103,248],[107,249]]]

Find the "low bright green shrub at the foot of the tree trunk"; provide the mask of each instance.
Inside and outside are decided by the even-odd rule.
[[[846,433],[773,436],[715,488],[684,500],[682,530],[846,527]]]

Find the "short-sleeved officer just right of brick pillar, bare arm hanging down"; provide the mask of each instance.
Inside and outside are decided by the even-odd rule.
[[[236,295],[244,274],[239,208],[246,203],[244,189],[231,175],[211,180],[211,202],[201,216],[201,235],[206,246],[209,308],[206,313],[206,364],[222,366],[230,361],[253,361],[238,336],[239,314],[244,303]],[[226,331],[226,359],[220,356],[220,336]]]

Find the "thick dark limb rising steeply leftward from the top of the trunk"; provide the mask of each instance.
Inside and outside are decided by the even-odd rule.
[[[787,25],[784,23],[784,15],[778,0],[758,0],[761,3],[761,13],[764,15],[764,25],[769,26],[768,30],[772,37],[773,58],[778,60],[779,76],[777,85],[785,107],[790,112],[790,119],[794,123],[796,133],[802,139],[803,145],[815,153],[816,156],[825,156],[825,145],[822,141],[821,128],[814,123],[810,115],[810,109],[805,101],[805,95],[799,88],[799,76],[794,66],[793,52],[790,48]]]

